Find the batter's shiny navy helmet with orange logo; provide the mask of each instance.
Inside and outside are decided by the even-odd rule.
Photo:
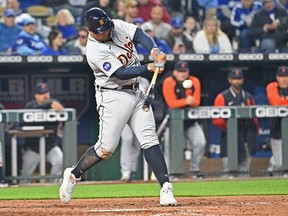
[[[113,27],[111,19],[100,8],[93,7],[85,13],[85,23],[90,31],[100,34]]]

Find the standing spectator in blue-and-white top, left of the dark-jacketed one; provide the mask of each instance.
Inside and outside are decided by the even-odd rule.
[[[239,29],[239,51],[251,51],[251,41],[249,38],[249,27],[253,16],[262,9],[262,4],[254,0],[241,0],[234,6],[231,15],[231,24]]]

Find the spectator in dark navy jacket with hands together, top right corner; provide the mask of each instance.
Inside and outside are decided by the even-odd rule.
[[[262,52],[280,51],[287,42],[287,12],[275,6],[273,0],[262,0],[263,9],[255,14],[249,30],[253,40],[260,40]]]

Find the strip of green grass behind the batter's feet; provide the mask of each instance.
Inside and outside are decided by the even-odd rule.
[[[59,186],[1,188],[0,200],[58,199]],[[175,196],[288,195],[288,180],[175,182]],[[157,183],[78,185],[73,198],[154,197]]]

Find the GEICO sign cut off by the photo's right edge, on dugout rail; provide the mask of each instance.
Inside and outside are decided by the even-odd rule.
[[[258,118],[264,117],[287,117],[288,107],[259,107],[255,110]]]

